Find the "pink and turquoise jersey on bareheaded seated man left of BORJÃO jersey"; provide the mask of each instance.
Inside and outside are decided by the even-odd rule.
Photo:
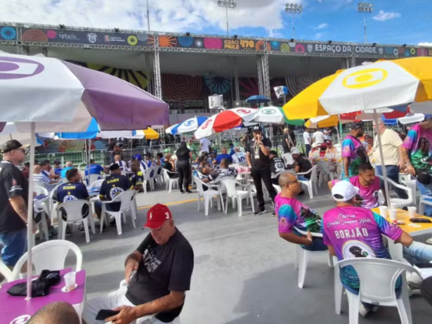
[[[308,206],[296,200],[277,195],[275,212],[279,219],[279,233],[293,233],[294,226],[301,231],[321,233],[321,217]]]

